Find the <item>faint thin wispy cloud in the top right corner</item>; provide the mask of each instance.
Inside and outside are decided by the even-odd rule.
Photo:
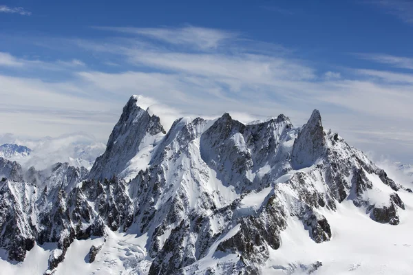
[[[399,17],[405,23],[413,24],[413,1],[411,0],[372,0],[371,3],[385,12]]]

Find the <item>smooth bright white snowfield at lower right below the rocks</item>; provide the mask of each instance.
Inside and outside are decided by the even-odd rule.
[[[271,250],[263,274],[300,274],[300,265],[320,261],[313,274],[412,274],[413,203],[410,194],[400,192],[406,211],[397,226],[372,223],[352,201],[337,205],[337,212],[321,211],[332,228],[332,239],[315,243],[297,219],[290,218],[282,232],[282,246]],[[302,273],[306,274],[306,273]]]

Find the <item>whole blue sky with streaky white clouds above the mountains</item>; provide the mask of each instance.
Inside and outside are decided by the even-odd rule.
[[[142,94],[297,125],[319,109],[350,144],[413,162],[412,1],[2,1],[0,25],[0,133],[107,140]]]

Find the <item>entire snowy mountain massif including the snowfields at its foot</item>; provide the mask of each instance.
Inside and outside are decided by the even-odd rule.
[[[57,164],[1,181],[5,272],[410,273],[412,190],[319,111],[301,127],[224,113],[166,132],[140,99],[88,175]]]

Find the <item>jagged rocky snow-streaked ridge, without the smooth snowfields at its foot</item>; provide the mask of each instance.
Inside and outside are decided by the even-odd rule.
[[[47,177],[3,166],[0,246],[10,261],[54,242],[45,270],[52,274],[75,239],[106,240],[113,231],[145,237],[131,274],[258,274],[290,217],[315,243],[330,241],[334,228],[322,212],[343,201],[372,223],[401,222],[399,192],[412,191],[325,131],[317,110],[302,127],[285,115],[242,124],[224,113],[180,118],[166,133],[138,100],[125,105],[89,175],[67,164]],[[99,261],[101,248],[91,248],[90,259]]]

